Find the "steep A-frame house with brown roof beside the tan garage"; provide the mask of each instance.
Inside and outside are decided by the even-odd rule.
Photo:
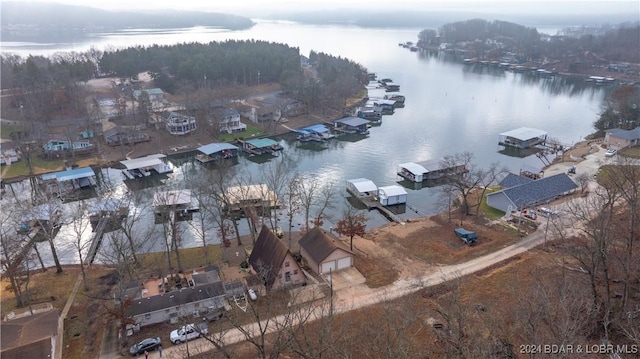
[[[266,225],[249,256],[251,270],[262,278],[267,290],[305,285],[307,278],[291,251]]]

